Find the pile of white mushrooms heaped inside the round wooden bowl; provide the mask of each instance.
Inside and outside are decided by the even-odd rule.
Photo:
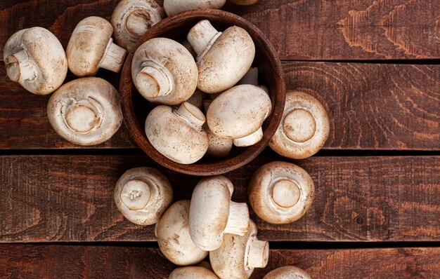
[[[150,39],[134,53],[134,85],[146,100],[161,104],[145,120],[148,141],[182,164],[205,154],[228,156],[233,145],[257,144],[272,104],[267,89],[258,86],[258,69],[251,69],[255,46],[250,34],[236,26],[219,32],[201,20],[187,39],[190,47],[172,39]],[[195,59],[188,48],[195,50]],[[205,95],[214,100],[203,101]],[[204,103],[205,114],[200,110]],[[176,105],[179,109],[171,107]]]

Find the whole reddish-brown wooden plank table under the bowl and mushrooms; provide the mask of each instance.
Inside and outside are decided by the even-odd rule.
[[[67,46],[79,20],[110,18],[117,2],[1,1],[0,51],[33,26]],[[268,36],[287,88],[317,97],[331,118],[324,149],[292,161],[315,182],[309,212],[283,226],[251,212],[272,247],[252,278],[287,264],[313,278],[440,278],[440,1],[260,0],[224,9]],[[117,74],[98,76],[117,86]],[[190,198],[198,178],[159,167],[125,127],[90,149],[66,142],[48,123],[47,101],[9,81],[0,62],[0,277],[167,278],[176,266],[153,226],[125,220],[112,191],[136,166],[164,172],[175,200]],[[291,161],[266,150],[228,174],[233,199],[245,201],[254,170],[273,160]]]

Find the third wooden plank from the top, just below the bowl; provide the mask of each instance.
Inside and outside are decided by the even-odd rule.
[[[268,152],[270,153],[270,152]],[[259,156],[229,173],[233,200],[247,201]],[[259,236],[271,241],[438,241],[440,156],[316,157],[297,162],[316,186],[311,209],[298,222],[266,224],[252,214]],[[125,170],[146,156],[1,156],[0,242],[153,241],[154,226],[136,226],[117,211],[113,189]],[[198,177],[159,168],[174,200],[189,199]]]

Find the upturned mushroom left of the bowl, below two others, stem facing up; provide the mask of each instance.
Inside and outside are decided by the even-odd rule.
[[[51,96],[47,116],[58,135],[79,145],[101,144],[122,123],[117,90],[96,77],[65,83]]]

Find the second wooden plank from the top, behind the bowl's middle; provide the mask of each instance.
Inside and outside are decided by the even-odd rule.
[[[329,112],[324,149],[440,150],[439,65],[285,62],[284,68],[288,89],[314,95]],[[117,87],[116,74],[99,76]],[[0,63],[0,149],[80,148],[53,131],[47,100],[8,81]],[[92,148],[135,146],[123,125]]]

